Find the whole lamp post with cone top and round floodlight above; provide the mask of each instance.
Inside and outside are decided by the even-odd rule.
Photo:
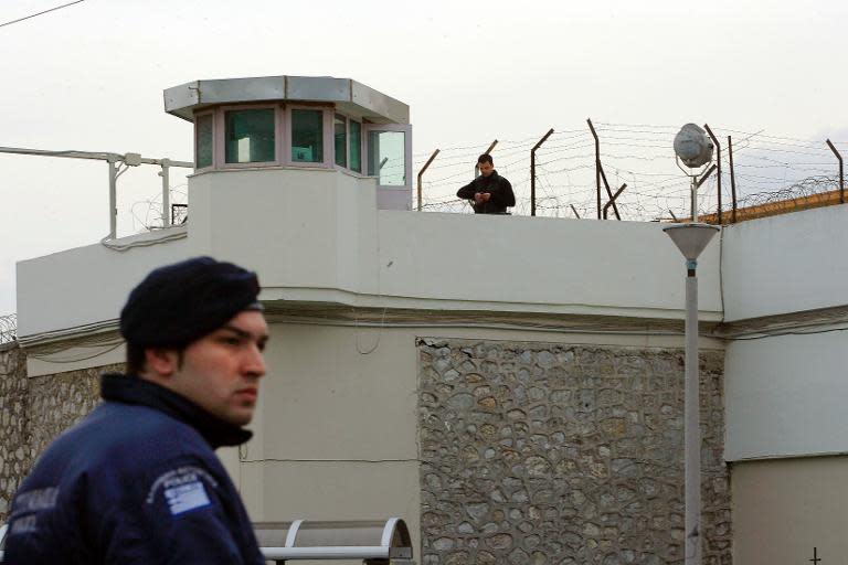
[[[700,134],[699,134],[700,132]],[[679,162],[690,169],[712,160],[712,143],[695,124],[687,124],[675,138]],[[681,167],[682,169],[682,167]],[[698,223],[698,182],[692,178],[692,222],[662,228],[686,258],[686,375],[683,381],[683,475],[686,518],[683,522],[686,565],[701,565],[701,424],[698,387],[698,256],[710,243],[719,227]]]

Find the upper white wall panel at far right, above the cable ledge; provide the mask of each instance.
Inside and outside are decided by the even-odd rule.
[[[848,305],[848,205],[724,228],[725,321]]]

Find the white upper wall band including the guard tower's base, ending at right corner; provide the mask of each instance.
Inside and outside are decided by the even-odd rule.
[[[325,170],[199,174],[188,242],[21,263],[21,335],[114,320],[151,267],[199,254],[257,270],[263,300],[682,318],[683,260],[659,224],[378,211],[375,190]],[[703,320],[721,318],[718,262],[713,243]]]

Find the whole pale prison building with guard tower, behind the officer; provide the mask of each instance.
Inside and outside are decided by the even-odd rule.
[[[484,562],[488,555],[519,563],[524,556],[548,559],[541,563],[680,557],[676,502],[666,510],[651,507],[678,500],[679,484],[668,483],[668,498],[653,495],[650,469],[633,476],[630,486],[628,467],[616,463],[650,459],[643,451],[647,443],[626,455],[627,443],[650,437],[645,430],[654,429],[651,411],[666,414],[664,403],[670,415],[661,429],[669,444],[657,448],[670,455],[659,454],[656,461],[677,461],[676,448],[667,446],[677,445],[682,397],[674,383],[658,385],[670,393],[647,394],[638,383],[650,388],[658,377],[627,380],[625,359],[628,351],[654,365],[666,363],[654,353],[678,352],[682,359],[685,268],[660,224],[412,212],[409,107],[349,79],[198,81],[166,90],[165,100],[168,111],[195,124],[189,220],[124,238],[124,252],[95,244],[21,262],[19,341],[29,379],[121,362],[118,312],[153,267],[195,255],[232,260],[258,273],[272,337],[254,438],[221,452],[254,520],[400,515],[422,563],[459,563],[463,556]],[[485,249],[476,242],[486,242]],[[722,540],[706,553],[711,563],[732,556],[739,564],[796,564],[810,558],[813,547],[819,556],[848,555],[841,535],[848,501],[840,494],[848,481],[846,242],[848,207],[833,206],[725,226],[699,260],[701,349],[723,363],[714,399],[722,415],[710,424],[720,455],[711,463],[707,458],[714,472],[703,480],[716,497],[727,491],[730,500],[730,516],[716,510],[706,534],[708,543],[714,532]],[[491,380],[484,371],[486,348],[524,355],[515,363],[492,360],[500,367],[515,365],[505,371],[519,380],[526,361],[528,374],[538,370],[529,379],[544,382],[519,383],[510,394],[532,398],[536,388],[547,395],[522,405],[528,414],[542,405],[548,412],[547,443],[524,459],[524,468],[505,470],[506,484],[510,473],[527,471],[530,459],[559,455],[540,463],[551,466],[541,475],[518,477],[524,486],[507,493],[502,520],[489,509],[494,518],[477,523],[445,510],[459,505],[466,510],[456,512],[470,512],[479,493],[451,490],[458,489],[447,484],[453,471],[428,471],[454,456],[445,438],[444,454],[428,450],[433,434],[422,414],[442,409],[427,405],[431,385],[459,391],[452,367],[466,380],[477,372]],[[445,361],[436,371],[441,361],[431,358],[439,350],[454,365]],[[460,359],[465,350],[467,359]],[[561,355],[564,364],[549,363],[550,355]],[[604,404],[603,379],[586,376],[594,369],[572,374],[568,363],[574,355],[612,359],[608,374],[618,384],[610,385],[610,394],[619,399]],[[606,371],[604,359],[593,361],[598,371]],[[679,373],[682,386],[682,364],[667,371]],[[572,395],[555,379],[582,381]],[[475,411],[505,422],[517,414],[519,408],[491,412],[505,402],[484,391],[494,383],[470,390],[471,396],[483,391],[477,405],[438,413],[447,431],[457,425],[470,429]],[[621,383],[630,388],[616,392]],[[576,413],[556,411],[558,391],[571,395]],[[581,415],[576,401],[590,396],[585,406],[596,420]],[[529,428],[536,422],[527,416]],[[592,429],[581,431],[580,424],[558,444],[550,427],[566,430],[570,422]],[[513,434],[521,426],[505,425],[499,433],[506,429]],[[491,451],[491,465],[523,452],[521,441],[492,439],[504,450]],[[575,447],[583,441],[591,452]],[[489,457],[487,449],[480,447],[478,458]],[[468,465],[477,465],[469,457]],[[543,480],[586,476],[569,467],[572,459],[600,469],[592,480],[611,486],[610,497],[625,497],[618,507],[610,502],[618,510],[605,512],[605,491],[584,495],[576,479],[549,489],[560,499],[537,500],[548,492],[539,487]],[[463,480],[487,484],[485,475],[484,469],[483,477]],[[504,481],[494,490],[502,490]],[[640,508],[625,504],[630,487]],[[453,494],[436,500],[433,492]],[[545,520],[545,509],[572,503],[574,516]],[[547,545],[529,541],[532,530],[522,525],[531,523],[533,509],[541,515],[533,527],[560,527]],[[445,524],[454,522],[459,533],[448,535]],[[570,545],[562,540],[571,523],[580,527]],[[667,547],[627,541],[639,536],[667,537]]]

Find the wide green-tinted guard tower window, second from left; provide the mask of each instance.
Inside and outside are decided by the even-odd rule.
[[[274,161],[274,108],[224,113],[225,162]]]

